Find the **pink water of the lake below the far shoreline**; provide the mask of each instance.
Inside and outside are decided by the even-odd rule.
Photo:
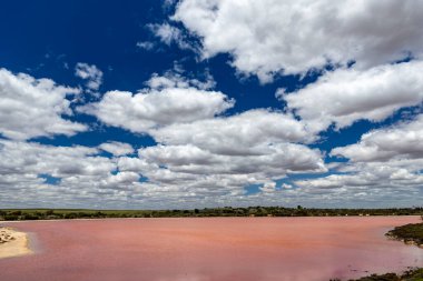
[[[384,233],[419,217],[108,219],[8,222],[33,255],[0,260],[7,281],[328,281],[423,267]]]

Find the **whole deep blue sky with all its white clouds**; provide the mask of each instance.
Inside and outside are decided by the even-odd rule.
[[[422,0],[19,0],[0,208],[417,207]]]

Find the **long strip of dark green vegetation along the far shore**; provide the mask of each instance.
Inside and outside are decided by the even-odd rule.
[[[390,209],[315,209],[285,207],[205,208],[193,210],[83,210],[83,209],[0,209],[0,221],[104,218],[203,218],[203,217],[337,217],[337,215],[422,215],[423,207]]]

